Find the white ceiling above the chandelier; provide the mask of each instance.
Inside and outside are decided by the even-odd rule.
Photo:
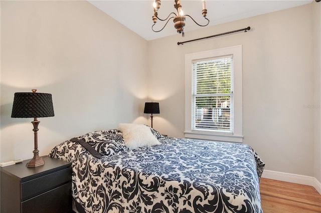
[[[173,19],[161,32],[151,30],[153,24],[153,0],[88,0],[90,3],[113,17],[146,40],[152,40],[177,34]],[[277,11],[289,7],[311,3],[312,0],[206,0],[208,26],[242,19],[250,16]],[[174,0],[162,0],[158,17],[165,19],[171,12],[176,12]],[[181,0],[185,14],[191,15],[200,24],[205,24],[201,11],[201,0]],[[299,15],[299,14],[298,14]],[[166,21],[158,20],[154,29],[161,29]],[[200,28],[186,17],[185,33]],[[240,26],[240,28],[246,26]],[[231,29],[233,30],[233,29]],[[181,35],[178,35],[181,36]]]

